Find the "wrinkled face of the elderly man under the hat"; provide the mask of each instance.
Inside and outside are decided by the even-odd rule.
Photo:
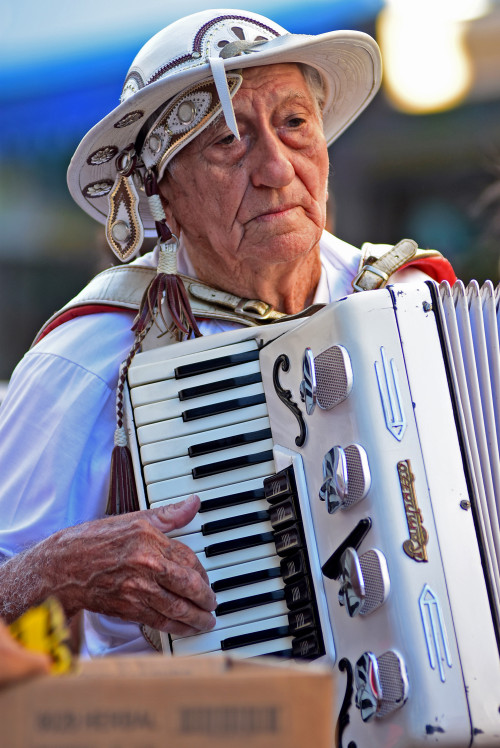
[[[241,140],[219,117],[160,183],[169,225],[206,280],[214,270],[244,280],[302,258],[325,225],[327,147],[299,67],[245,70],[233,106]]]

